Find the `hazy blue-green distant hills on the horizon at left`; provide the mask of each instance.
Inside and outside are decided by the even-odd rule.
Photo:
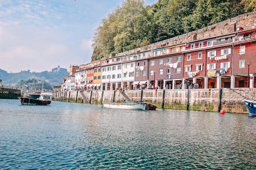
[[[62,82],[62,78],[66,76],[69,76],[69,72],[42,71],[40,73],[36,73],[36,72],[30,72],[30,70],[28,70],[28,71],[20,71],[18,73],[11,73],[11,78],[10,78],[10,73],[7,73],[7,71],[0,69],[0,79],[2,80],[2,84],[9,85],[9,80],[10,80],[10,85],[16,85],[16,86],[18,85],[18,82],[25,81],[28,79],[30,80],[35,79],[35,80],[42,81],[43,77],[44,77],[44,80],[47,81],[49,85],[52,86],[55,84],[60,84]],[[35,88],[35,87],[31,87],[31,88]]]

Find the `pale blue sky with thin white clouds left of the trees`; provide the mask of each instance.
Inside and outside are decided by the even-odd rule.
[[[158,0],[144,0],[153,5]],[[94,30],[122,0],[0,1],[0,69],[51,71],[91,61]]]

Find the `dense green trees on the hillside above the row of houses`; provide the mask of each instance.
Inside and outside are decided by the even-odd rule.
[[[123,0],[94,32],[92,61],[256,11],[256,0]]]

